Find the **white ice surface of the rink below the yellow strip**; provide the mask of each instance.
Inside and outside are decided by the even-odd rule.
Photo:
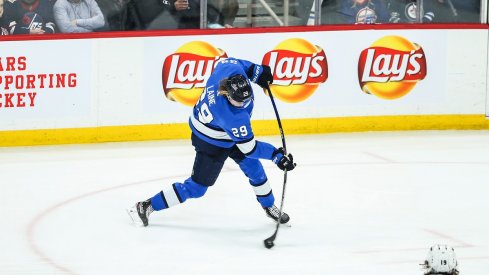
[[[189,141],[0,148],[0,274],[416,275],[438,243],[461,275],[489,274],[489,132],[290,135],[287,147],[291,227],[271,250],[275,224],[232,161],[205,197],[130,223],[127,207],[188,177]],[[263,164],[279,203],[283,173]]]

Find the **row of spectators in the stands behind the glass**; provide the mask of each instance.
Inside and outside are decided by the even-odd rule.
[[[0,31],[9,35],[232,28],[240,3],[258,2],[244,1],[207,0],[208,24],[201,26],[201,0],[0,0]],[[293,2],[306,7],[300,14],[305,25],[312,0],[289,0]],[[480,0],[423,0],[418,8],[420,2],[322,0],[321,24],[480,22]]]

